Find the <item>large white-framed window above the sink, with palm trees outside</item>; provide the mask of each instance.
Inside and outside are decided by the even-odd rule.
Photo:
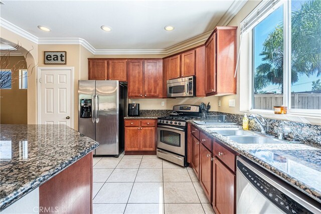
[[[250,109],[284,105],[289,112],[319,114],[321,1],[274,0],[262,5],[241,23],[241,32],[251,35]]]

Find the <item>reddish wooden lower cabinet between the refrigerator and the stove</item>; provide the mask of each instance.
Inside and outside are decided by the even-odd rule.
[[[155,124],[155,120],[125,120],[125,154],[156,154]]]

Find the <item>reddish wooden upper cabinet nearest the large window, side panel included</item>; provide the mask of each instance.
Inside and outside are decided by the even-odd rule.
[[[237,27],[216,27],[205,43],[206,95],[236,94]]]

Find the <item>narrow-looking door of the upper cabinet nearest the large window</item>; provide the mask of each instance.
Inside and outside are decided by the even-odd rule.
[[[205,45],[205,93],[216,91],[216,33]]]

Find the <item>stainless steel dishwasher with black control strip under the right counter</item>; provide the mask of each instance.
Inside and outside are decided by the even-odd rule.
[[[321,213],[321,204],[264,168],[237,157],[236,213]]]

